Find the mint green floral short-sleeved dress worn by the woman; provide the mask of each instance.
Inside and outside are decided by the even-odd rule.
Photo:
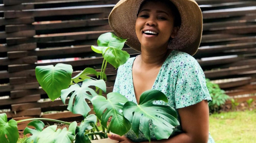
[[[117,78],[113,92],[118,92],[124,95],[129,101],[137,103],[133,87],[132,66],[135,57],[130,58],[124,65],[120,66],[117,71]],[[202,68],[197,60],[192,56],[179,51],[172,51],[163,63],[152,89],[157,89],[163,92],[168,103],[156,101],[155,104],[168,105],[173,107],[177,113],[178,108],[187,107],[203,100],[211,101],[209,91],[206,87],[205,76]],[[137,103],[138,104],[138,103]],[[177,114],[181,124],[180,116]],[[140,131],[142,126],[140,125]],[[152,124],[150,124],[152,127]],[[172,135],[181,133],[181,126]],[[152,129],[151,139],[155,140],[155,135]],[[133,142],[142,142],[147,139],[139,132],[139,137],[130,130],[126,136]],[[214,143],[213,138],[209,134],[208,143]]]

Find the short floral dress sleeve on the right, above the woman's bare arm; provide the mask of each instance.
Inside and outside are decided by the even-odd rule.
[[[175,87],[176,108],[187,107],[203,100],[211,101],[205,75],[196,59],[186,60],[177,73]]]

